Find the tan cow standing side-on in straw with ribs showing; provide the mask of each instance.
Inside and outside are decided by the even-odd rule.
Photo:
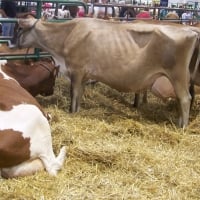
[[[70,77],[71,112],[79,110],[88,79],[122,92],[137,92],[166,76],[178,99],[178,124],[188,125],[189,65],[199,48],[199,29],[90,18],[63,23],[19,19],[19,26],[18,47],[43,48]]]

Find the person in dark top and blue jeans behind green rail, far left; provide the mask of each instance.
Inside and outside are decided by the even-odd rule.
[[[0,13],[4,18],[15,18],[17,15],[17,6],[14,0],[2,0]],[[2,36],[13,36],[15,23],[2,23]]]

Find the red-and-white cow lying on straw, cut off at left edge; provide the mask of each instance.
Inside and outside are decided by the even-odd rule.
[[[0,94],[1,176],[27,176],[44,168],[56,175],[65,159],[65,147],[55,157],[50,126],[40,105],[2,67]]]

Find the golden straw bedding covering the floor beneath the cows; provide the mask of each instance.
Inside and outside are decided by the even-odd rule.
[[[88,85],[81,111],[70,114],[69,86],[58,78],[51,97],[37,97],[52,115],[55,153],[68,155],[57,177],[47,172],[3,180],[0,199],[197,200],[200,198],[200,96],[186,130],[176,103],[149,94],[135,109],[132,94]]]

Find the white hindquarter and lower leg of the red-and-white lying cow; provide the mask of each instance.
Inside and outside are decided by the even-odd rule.
[[[56,175],[61,169],[66,155],[65,147],[62,147],[60,153],[55,157],[52,149],[51,131],[47,119],[44,117],[38,107],[29,104],[20,104],[13,106],[12,110],[0,111],[0,130],[13,129],[22,132],[24,138],[30,138],[30,160],[41,159],[42,163],[24,162],[18,166],[4,168],[3,172],[9,176],[23,176],[45,169],[51,175]],[[27,168],[28,167],[28,168]],[[25,171],[23,169],[26,169]]]

